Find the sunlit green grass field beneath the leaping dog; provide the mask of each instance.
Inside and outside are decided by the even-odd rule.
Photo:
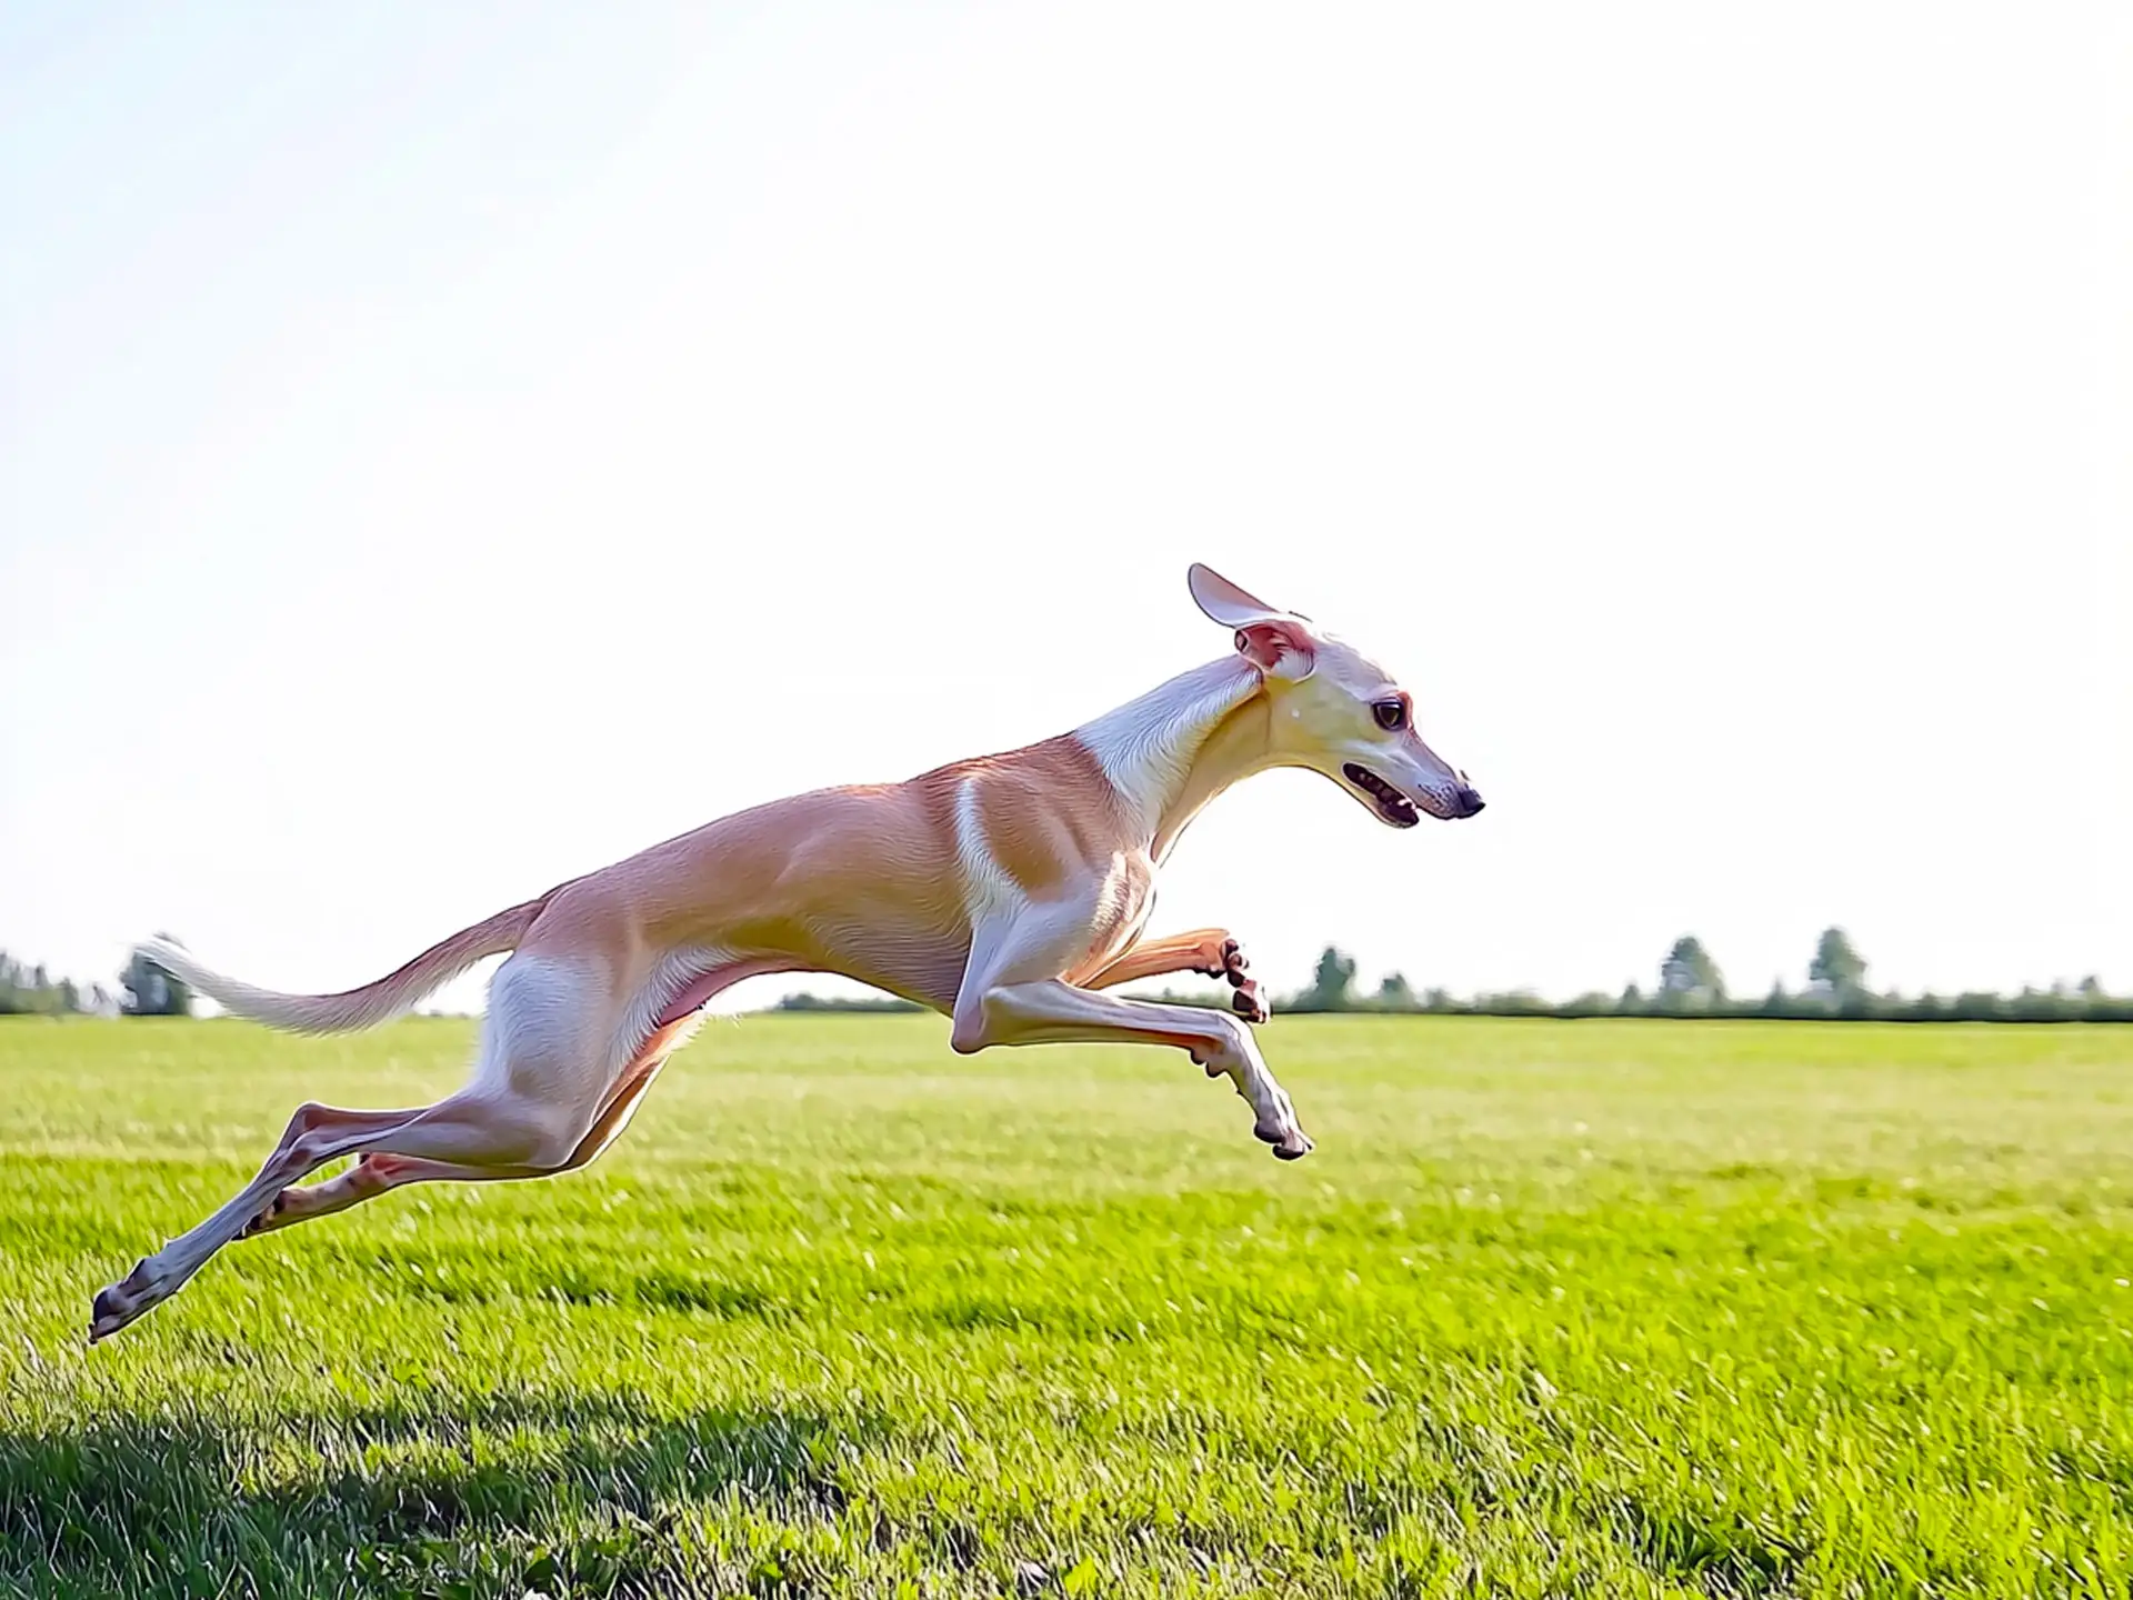
[[[2133,1583],[2133,1030],[1278,1020],[1282,1165],[1160,1052],[721,1022],[595,1169],[83,1348],[469,1037],[0,1026],[0,1591]]]

